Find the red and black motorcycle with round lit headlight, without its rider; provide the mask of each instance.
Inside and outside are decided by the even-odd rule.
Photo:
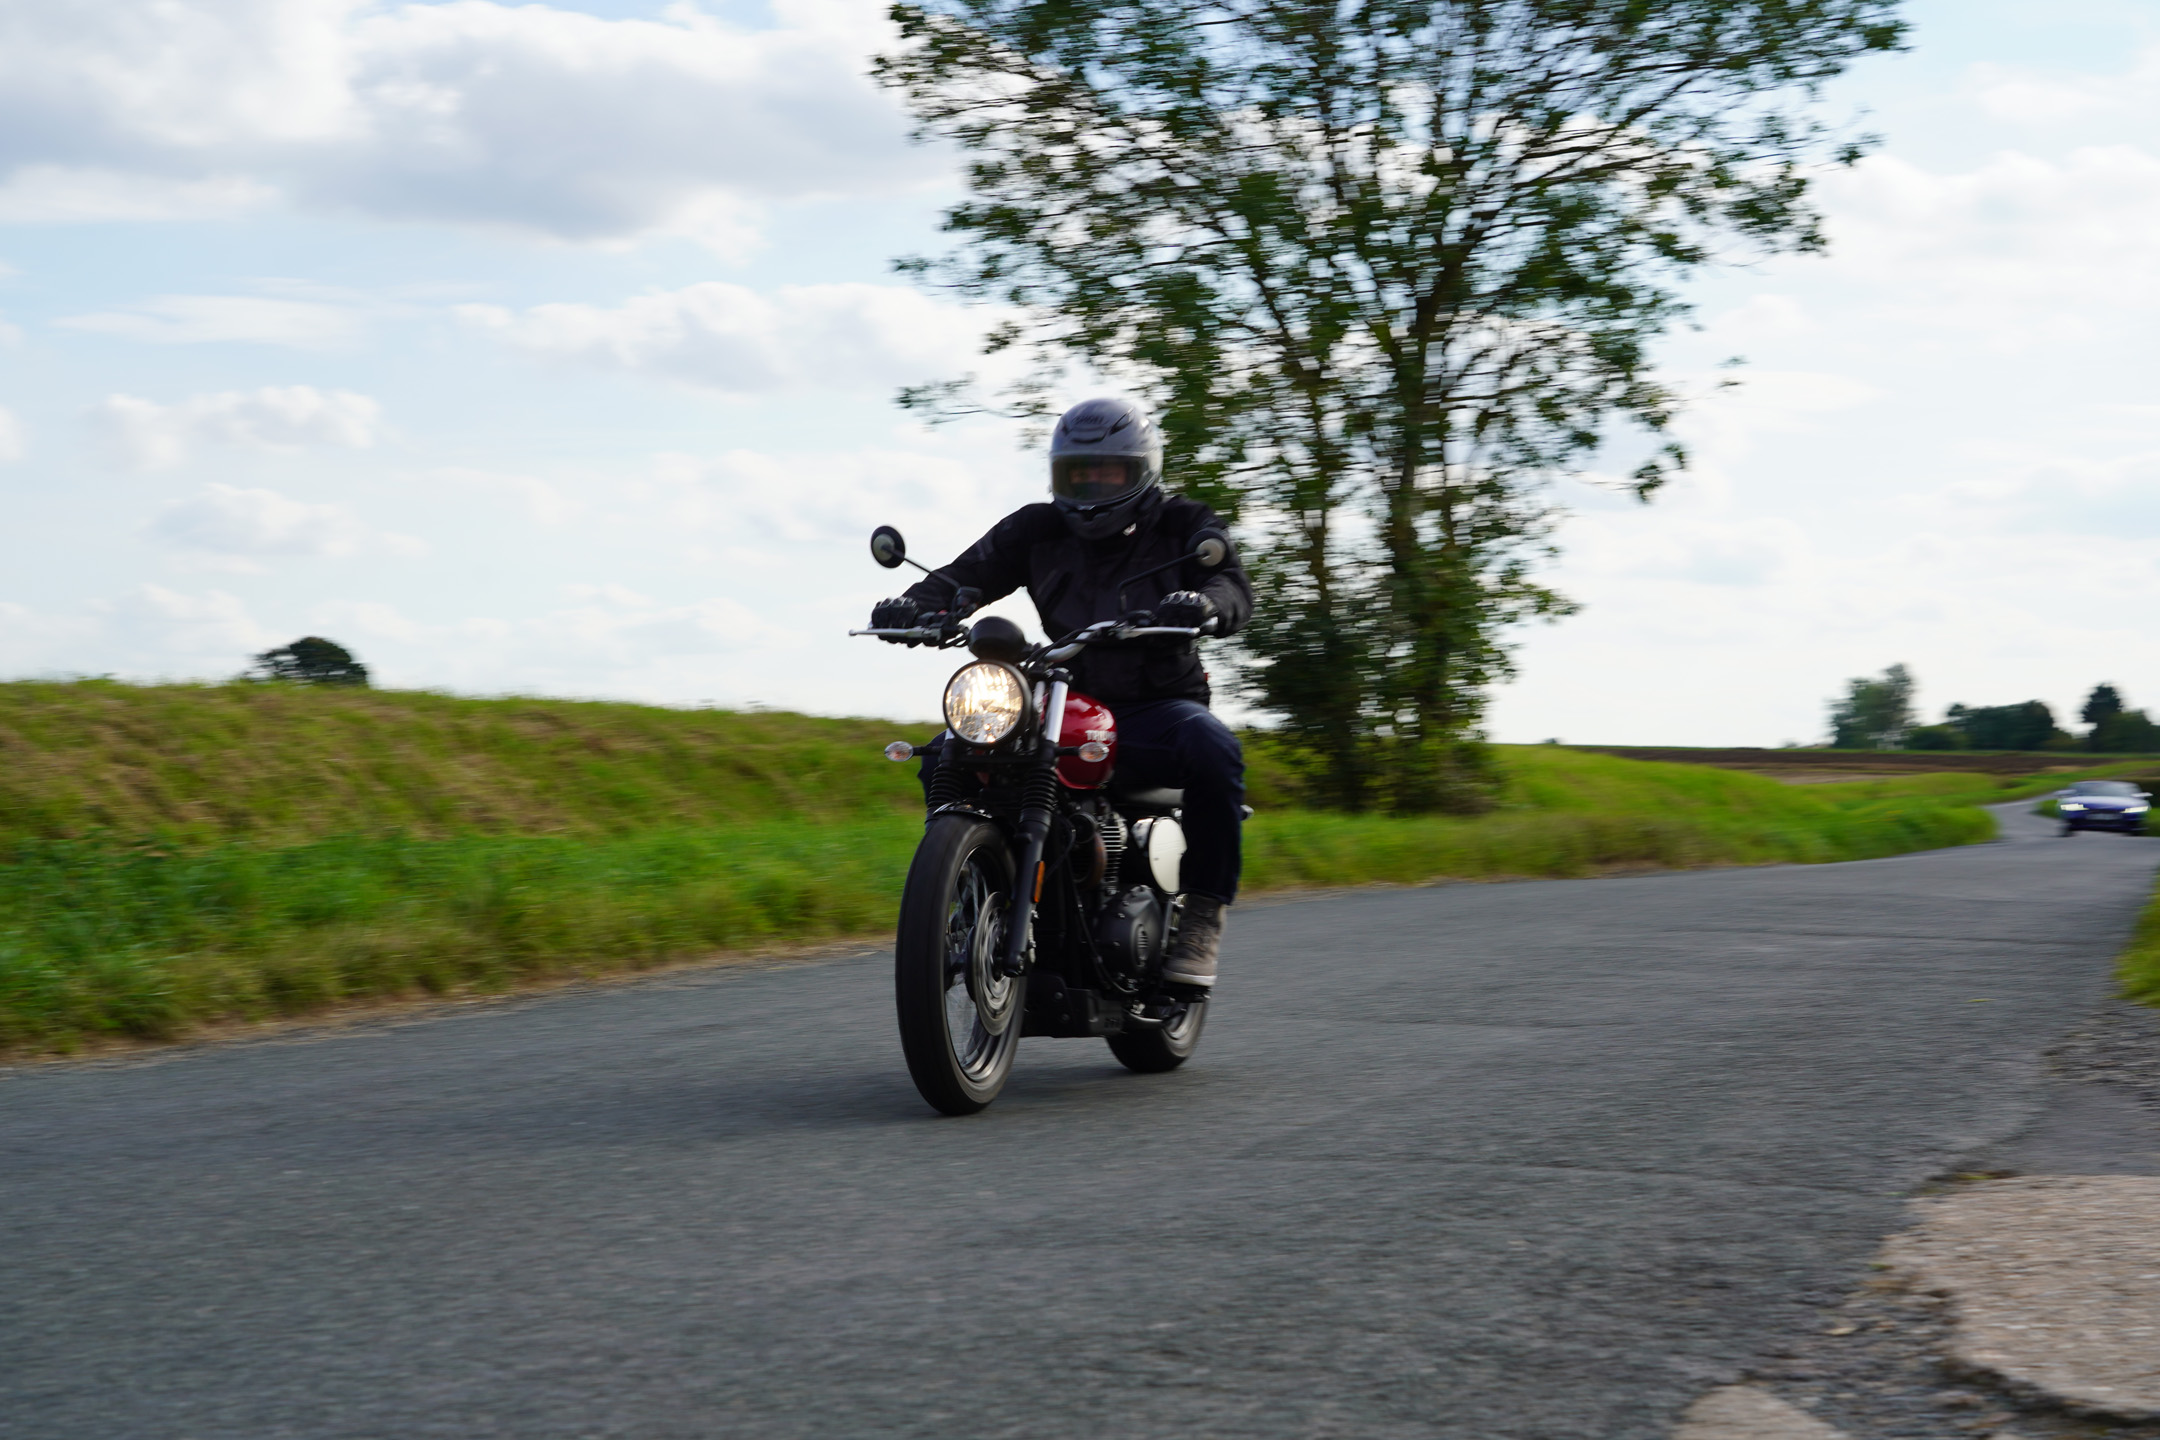
[[[870,555],[929,574],[890,525]],[[1186,555],[1128,576],[1117,609],[1134,581],[1229,559],[1229,538],[1201,531]],[[894,762],[935,758],[892,972],[907,1073],[944,1114],[998,1099],[1026,1036],[1102,1036],[1125,1069],[1160,1073],[1190,1060],[1207,1025],[1207,991],[1160,978],[1184,909],[1184,794],[1119,782],[1117,717],[1063,665],[1089,646],[1197,639],[1212,624],[1140,613],[1035,646],[1002,615],[968,624],[978,604],[961,589],[916,626],[849,630],[974,654],[946,682],[946,732],[886,747]]]

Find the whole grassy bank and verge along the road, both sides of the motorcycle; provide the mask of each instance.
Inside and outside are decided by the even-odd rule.
[[[289,687],[0,684],[0,1047],[162,1038],[890,924],[924,725]],[[1473,820],[1296,805],[1255,736],[1246,885],[1830,861],[2052,782],[1786,786],[1503,747]]]

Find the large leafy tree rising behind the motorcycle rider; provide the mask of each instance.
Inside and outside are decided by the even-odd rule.
[[[957,253],[991,350],[1149,395],[1177,481],[1268,585],[1253,682],[1328,799],[1475,805],[1547,481],[1637,427],[1685,464],[1650,343],[1724,250],[1821,246],[1817,86],[1894,0],[918,0],[879,73],[968,153]],[[933,384],[909,404],[953,404]],[[1622,466],[1622,468],[1626,468]]]

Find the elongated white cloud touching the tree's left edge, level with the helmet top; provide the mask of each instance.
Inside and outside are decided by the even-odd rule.
[[[665,376],[732,395],[892,389],[978,363],[985,315],[905,285],[784,285],[758,294],[708,281],[613,309],[458,307],[534,354]]]

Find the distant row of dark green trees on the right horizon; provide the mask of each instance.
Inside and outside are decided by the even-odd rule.
[[[2013,706],[1953,704],[1940,723],[1922,725],[1912,706],[1914,678],[1903,665],[1881,676],[1845,682],[1830,702],[1830,743],[1836,749],[2087,749],[2100,753],[2160,753],[2160,723],[2132,710],[2112,684],[2087,695],[2078,719],[2087,732],[2069,734],[2046,699]]]

